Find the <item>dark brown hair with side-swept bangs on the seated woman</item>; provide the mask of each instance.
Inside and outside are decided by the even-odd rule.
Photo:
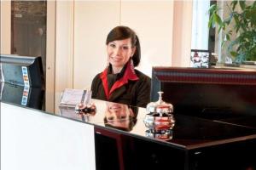
[[[131,45],[132,47],[136,47],[136,51],[132,56],[133,65],[137,66],[141,60],[141,46],[139,39],[135,33],[135,31],[131,30],[128,26],[116,26],[109,33],[106,40],[106,45],[109,42],[113,42],[115,40],[124,40],[131,37]]]

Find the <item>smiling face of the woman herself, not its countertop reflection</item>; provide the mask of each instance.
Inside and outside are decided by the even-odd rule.
[[[107,45],[108,61],[114,68],[122,68],[135,53],[131,38],[115,40]]]

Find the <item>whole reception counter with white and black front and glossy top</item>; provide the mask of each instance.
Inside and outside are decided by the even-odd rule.
[[[92,102],[96,114],[77,114],[65,106],[50,114],[3,101],[2,169],[256,167],[254,116],[217,121],[174,114],[174,126],[160,138],[148,133],[144,108]],[[123,110],[115,117],[113,108]]]

